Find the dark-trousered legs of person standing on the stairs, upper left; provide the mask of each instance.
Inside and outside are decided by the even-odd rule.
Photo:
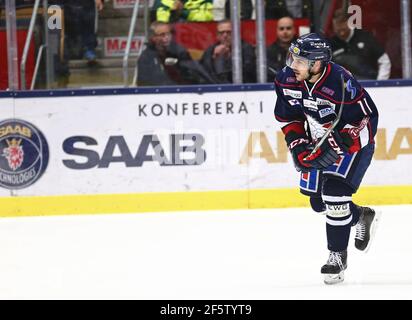
[[[95,31],[96,8],[103,9],[103,0],[66,0],[64,1],[66,47],[71,50],[68,58],[79,58],[75,48],[80,40],[82,57],[90,63],[96,60]]]

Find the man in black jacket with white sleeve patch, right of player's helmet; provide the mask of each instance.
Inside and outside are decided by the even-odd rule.
[[[351,28],[349,18],[349,14],[342,9],[337,10],[333,16],[333,60],[358,79],[389,79],[389,56],[371,33]]]

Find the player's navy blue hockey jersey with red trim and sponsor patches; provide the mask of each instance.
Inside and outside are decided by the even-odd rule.
[[[345,82],[343,96],[341,74]],[[343,99],[342,115],[334,130],[352,138],[349,153],[374,143],[378,110],[367,91],[340,65],[328,63],[317,82],[309,85],[297,81],[293,70],[285,67],[276,77],[275,88],[275,117],[284,123],[285,135],[294,130],[316,142],[336,119]]]

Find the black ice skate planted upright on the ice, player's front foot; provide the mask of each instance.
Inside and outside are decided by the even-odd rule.
[[[321,268],[320,272],[324,275],[325,284],[335,284],[343,282],[344,270],[347,268],[347,251],[330,251],[329,259]]]

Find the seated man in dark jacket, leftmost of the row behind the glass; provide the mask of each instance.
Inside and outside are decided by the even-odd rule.
[[[149,29],[149,43],[138,60],[139,86],[211,83],[212,79],[185,48],[172,39],[172,27],[155,21]]]

